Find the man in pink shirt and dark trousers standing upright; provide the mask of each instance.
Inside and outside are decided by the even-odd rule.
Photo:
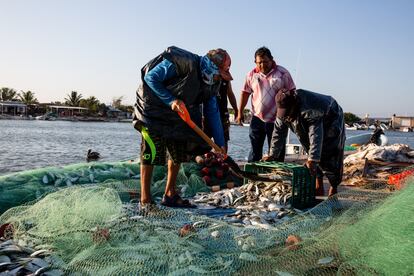
[[[250,122],[249,138],[251,150],[248,161],[262,159],[263,144],[267,137],[270,147],[274,122],[276,120],[276,94],[279,90],[295,90],[295,83],[288,70],[277,65],[270,50],[261,47],[255,54],[256,67],[250,71],[241,91],[240,108],[237,123],[243,121],[243,111],[252,95],[252,120]]]

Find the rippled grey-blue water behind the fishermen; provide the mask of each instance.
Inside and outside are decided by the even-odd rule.
[[[347,136],[368,131],[347,131]],[[414,133],[387,131],[389,143],[414,148]],[[298,143],[291,135],[291,143]],[[100,161],[135,159],[141,136],[131,123],[0,120],[0,175],[86,161],[88,149],[101,155]],[[247,160],[249,127],[231,126],[229,155]],[[265,142],[264,151],[267,151]]]

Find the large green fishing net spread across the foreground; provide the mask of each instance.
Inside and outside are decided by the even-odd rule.
[[[180,178],[191,185],[190,174]],[[392,194],[346,190],[270,229],[199,209],[140,209],[128,201],[131,179],[50,192],[0,223],[13,225],[19,244],[53,252],[68,275],[410,275],[412,182]],[[287,246],[289,237],[299,243]]]

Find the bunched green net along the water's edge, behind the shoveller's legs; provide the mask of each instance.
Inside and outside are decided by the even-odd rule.
[[[209,191],[201,179],[200,167],[185,163],[177,178],[183,196],[194,196],[197,192]],[[167,170],[155,166],[152,194],[161,197],[166,184]],[[123,182],[121,182],[123,181]],[[99,184],[112,187],[113,183],[122,199],[129,200],[140,191],[140,164],[133,161],[113,163],[84,163],[65,167],[50,167],[0,176],[0,214],[44,195],[76,185]]]

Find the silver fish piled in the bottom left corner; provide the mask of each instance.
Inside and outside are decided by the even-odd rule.
[[[46,249],[34,250],[23,241],[0,238],[0,275],[60,276],[62,260]]]

